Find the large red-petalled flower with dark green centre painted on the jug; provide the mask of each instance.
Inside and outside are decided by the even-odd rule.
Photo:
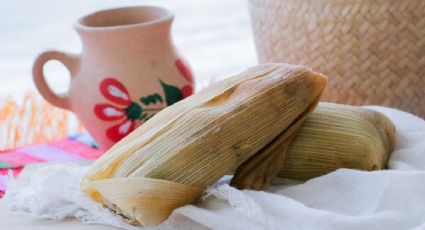
[[[99,85],[102,95],[113,104],[100,103],[94,106],[94,113],[104,121],[118,121],[120,123],[106,130],[106,136],[118,142],[135,128],[135,120],[142,114],[142,108],[131,101],[125,86],[113,78],[105,78]]]

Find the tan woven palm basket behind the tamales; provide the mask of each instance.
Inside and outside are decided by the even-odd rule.
[[[425,117],[425,0],[250,0],[260,62],[329,76],[323,101]]]

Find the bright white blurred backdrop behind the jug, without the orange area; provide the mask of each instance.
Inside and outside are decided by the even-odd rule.
[[[73,29],[80,17],[97,10],[157,5],[175,13],[173,35],[195,74],[197,89],[256,63],[246,0],[14,0],[0,1],[0,98],[19,100],[35,92],[31,68],[46,49],[81,52]],[[60,63],[45,67],[56,92],[65,92],[69,73]]]

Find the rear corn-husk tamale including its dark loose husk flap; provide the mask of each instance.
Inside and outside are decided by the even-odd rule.
[[[320,103],[296,132],[292,138],[283,132],[245,161],[232,186],[265,190],[276,175],[308,180],[339,168],[384,169],[395,143],[394,124],[385,115],[332,103]]]

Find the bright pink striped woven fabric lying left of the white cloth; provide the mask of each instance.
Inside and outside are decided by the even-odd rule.
[[[9,175],[16,177],[25,165],[39,162],[75,162],[97,159],[102,152],[90,138],[77,135],[60,141],[35,144],[0,152],[0,198]]]

